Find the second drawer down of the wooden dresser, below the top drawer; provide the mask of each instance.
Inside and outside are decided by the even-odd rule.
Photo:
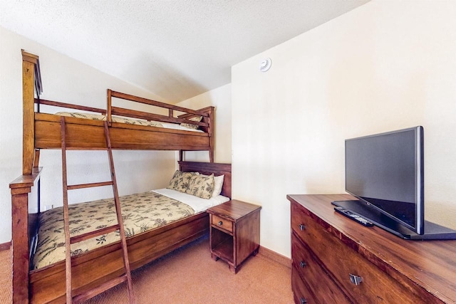
[[[309,285],[314,294],[318,295],[315,299],[316,303],[350,303],[342,290],[312,256],[309,248],[295,235],[291,236],[291,256],[296,272]]]

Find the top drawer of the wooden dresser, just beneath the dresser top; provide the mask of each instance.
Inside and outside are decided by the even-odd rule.
[[[299,204],[291,206],[293,231],[331,271],[336,284],[352,300],[358,303],[423,303],[405,286],[353,250],[357,248],[350,248],[333,236],[331,226],[325,229],[302,209]],[[299,225],[304,228],[300,229]],[[352,281],[358,281],[358,285]]]

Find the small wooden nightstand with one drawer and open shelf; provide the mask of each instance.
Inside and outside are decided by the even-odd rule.
[[[233,273],[246,258],[258,253],[260,209],[235,199],[207,209],[211,256],[214,261],[227,262]]]

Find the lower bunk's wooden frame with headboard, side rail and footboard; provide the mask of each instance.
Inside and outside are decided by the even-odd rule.
[[[231,197],[231,164],[210,162],[179,162],[180,170],[202,174],[224,175],[222,195]],[[31,204],[39,201],[31,196],[33,186],[38,187],[41,168],[33,174],[23,175],[11,182],[13,220],[13,303],[65,303],[65,261],[28,271],[30,262],[29,236],[36,231],[37,213],[30,214]],[[36,202],[38,201],[38,202]],[[33,208],[32,208],[33,209]],[[39,211],[38,211],[39,213]],[[166,226],[146,231],[127,239],[131,269],[149,263],[170,251],[184,246],[209,232],[206,212],[189,216]],[[72,260],[73,295],[83,293],[120,276],[123,271],[120,241],[76,256]]]

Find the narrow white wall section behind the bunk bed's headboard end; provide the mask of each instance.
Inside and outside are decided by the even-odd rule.
[[[190,109],[215,107],[214,162],[231,164],[231,84],[202,93],[177,105]],[[184,159],[193,162],[209,162],[209,153],[185,152]]]

